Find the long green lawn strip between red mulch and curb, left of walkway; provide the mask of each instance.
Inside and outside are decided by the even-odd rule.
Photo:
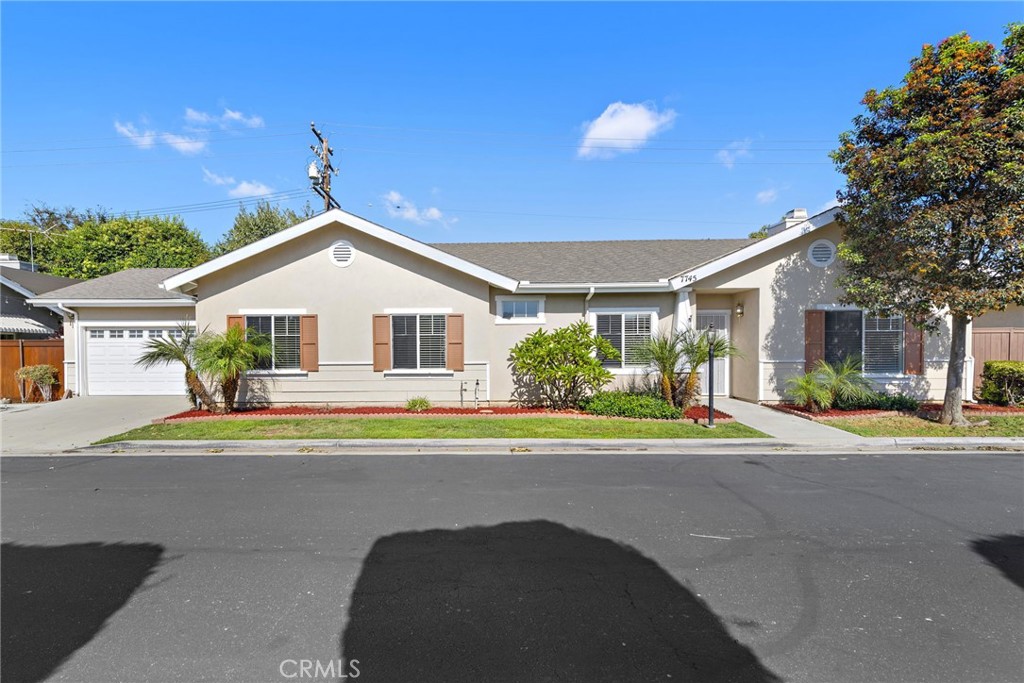
[[[707,429],[691,422],[573,418],[319,418],[207,420],[146,425],[97,443],[266,438],[769,438],[736,422]]]

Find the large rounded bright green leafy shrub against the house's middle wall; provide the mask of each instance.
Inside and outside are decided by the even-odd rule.
[[[618,358],[604,337],[585,321],[551,332],[538,330],[512,347],[512,372],[526,396],[549,408],[579,408],[580,401],[611,381],[601,357]]]

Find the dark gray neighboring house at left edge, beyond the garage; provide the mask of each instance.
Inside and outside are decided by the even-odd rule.
[[[11,254],[0,254],[0,339],[48,339],[63,330],[63,312],[28,299],[82,282],[36,272]]]

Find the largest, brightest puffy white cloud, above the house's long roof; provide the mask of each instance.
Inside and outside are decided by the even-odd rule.
[[[584,124],[583,139],[577,148],[580,159],[610,159],[636,152],[650,138],[672,127],[673,110],[658,112],[650,102],[612,102],[601,116]]]

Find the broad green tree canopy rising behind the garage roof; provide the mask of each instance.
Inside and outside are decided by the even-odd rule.
[[[209,256],[199,233],[176,216],[115,218],[54,236],[45,270],[96,278],[125,268],[190,268]]]

